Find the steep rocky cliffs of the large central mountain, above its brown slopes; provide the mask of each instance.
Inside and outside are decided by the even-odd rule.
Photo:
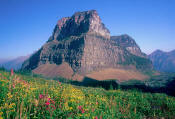
[[[72,75],[86,75],[122,65],[150,68],[149,60],[133,55],[135,51],[111,40],[109,30],[95,10],[77,12],[58,21],[48,42],[25,61],[22,69],[34,70],[43,64],[59,66],[68,63],[74,72]]]

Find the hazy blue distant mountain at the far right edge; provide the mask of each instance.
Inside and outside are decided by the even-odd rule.
[[[175,50],[164,52],[156,50],[149,55],[156,70],[163,72],[175,72]]]

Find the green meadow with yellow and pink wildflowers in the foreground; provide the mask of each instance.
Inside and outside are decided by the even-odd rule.
[[[77,87],[0,71],[1,118],[175,118],[175,98],[165,94]]]

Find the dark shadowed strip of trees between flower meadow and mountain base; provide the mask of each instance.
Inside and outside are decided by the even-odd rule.
[[[159,80],[155,81],[160,83]],[[85,86],[85,87],[102,87],[106,90],[109,89],[123,89],[123,90],[140,90],[142,92],[150,92],[150,93],[166,93],[170,96],[175,96],[175,77],[171,77],[171,81],[165,83],[164,86],[153,86],[154,84],[147,85],[146,82],[139,80],[129,80],[124,82],[119,82],[117,80],[103,80],[98,81],[92,78],[85,77],[82,82],[79,81],[70,81],[71,84],[77,86]],[[151,83],[151,82],[150,82]]]

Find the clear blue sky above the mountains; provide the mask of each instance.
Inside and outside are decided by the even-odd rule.
[[[111,35],[130,35],[147,54],[175,49],[175,0],[0,0],[0,58],[33,53],[60,18],[91,9]]]

